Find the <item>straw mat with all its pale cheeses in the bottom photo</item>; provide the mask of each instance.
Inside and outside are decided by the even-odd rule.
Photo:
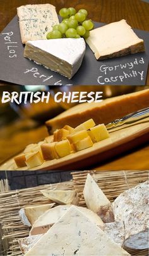
[[[90,255],[146,255],[148,171],[81,171],[72,175],[68,182],[1,193],[5,253],[74,255],[77,250],[77,255],[88,255],[89,250]],[[71,191],[79,200],[69,205]],[[49,192],[55,195],[51,198]],[[57,198],[59,204],[49,207]],[[49,210],[44,212],[45,205]]]

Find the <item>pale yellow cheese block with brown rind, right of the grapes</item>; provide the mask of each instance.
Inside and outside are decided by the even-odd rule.
[[[93,29],[86,42],[97,60],[145,51],[143,39],[133,32],[126,20]]]

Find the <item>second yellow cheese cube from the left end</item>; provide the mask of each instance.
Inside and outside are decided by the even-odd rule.
[[[25,156],[25,158],[27,167],[30,169],[42,165],[42,163],[44,163],[44,160],[39,152],[29,153]]]

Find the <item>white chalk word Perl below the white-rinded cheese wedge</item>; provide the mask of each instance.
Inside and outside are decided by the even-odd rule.
[[[32,74],[33,77],[37,78],[37,79],[41,79],[41,82],[46,82],[48,80],[51,80],[51,79],[54,79],[54,75],[50,75],[50,76],[47,76],[47,75],[43,75],[43,74],[40,74],[39,73],[39,70],[38,68],[26,68],[24,74]],[[63,82],[62,80],[59,80],[57,82],[54,82],[53,84],[54,86],[63,86]],[[66,84],[66,86],[73,86],[73,84]]]

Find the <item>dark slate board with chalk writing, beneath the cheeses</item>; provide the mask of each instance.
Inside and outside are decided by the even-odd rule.
[[[95,29],[104,23],[94,22]],[[20,85],[145,85],[149,60],[149,32],[134,30],[145,42],[145,52],[97,61],[86,44],[82,65],[72,79],[24,58],[18,18],[0,34],[0,80]]]

